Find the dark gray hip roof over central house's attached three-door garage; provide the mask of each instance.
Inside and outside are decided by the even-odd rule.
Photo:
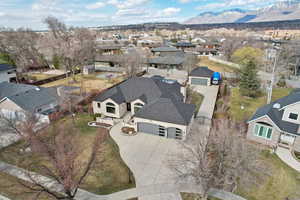
[[[159,98],[157,101],[147,104],[136,117],[157,120],[162,122],[188,125],[194,115],[196,107],[170,98]]]

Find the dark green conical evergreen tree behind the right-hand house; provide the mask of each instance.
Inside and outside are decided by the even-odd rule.
[[[257,97],[260,94],[260,81],[253,61],[242,68],[240,78],[240,92],[243,96]]]

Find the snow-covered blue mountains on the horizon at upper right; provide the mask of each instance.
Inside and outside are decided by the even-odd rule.
[[[275,3],[258,10],[229,9],[220,12],[203,12],[188,19],[185,24],[218,24],[269,22],[300,19],[300,0]]]

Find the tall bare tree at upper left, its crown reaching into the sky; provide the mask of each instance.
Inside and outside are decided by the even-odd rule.
[[[96,36],[92,31],[67,27],[55,17],[47,17],[44,23],[48,26],[49,34],[44,35],[40,43],[49,62],[54,56],[59,56],[65,70],[73,74],[76,69],[94,62]]]

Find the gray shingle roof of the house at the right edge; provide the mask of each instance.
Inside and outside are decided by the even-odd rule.
[[[296,103],[300,101],[300,92],[294,91],[291,92],[290,95],[283,97],[281,99],[278,99],[270,104],[267,104],[259,109],[254,113],[254,115],[250,118],[249,122],[252,120],[256,120],[260,117],[263,116],[268,116],[280,130],[295,134],[295,135],[300,135],[298,133],[299,125],[287,121],[282,120],[283,112],[284,109],[276,109],[273,108],[274,104],[279,103],[281,108],[288,106],[290,104]]]

